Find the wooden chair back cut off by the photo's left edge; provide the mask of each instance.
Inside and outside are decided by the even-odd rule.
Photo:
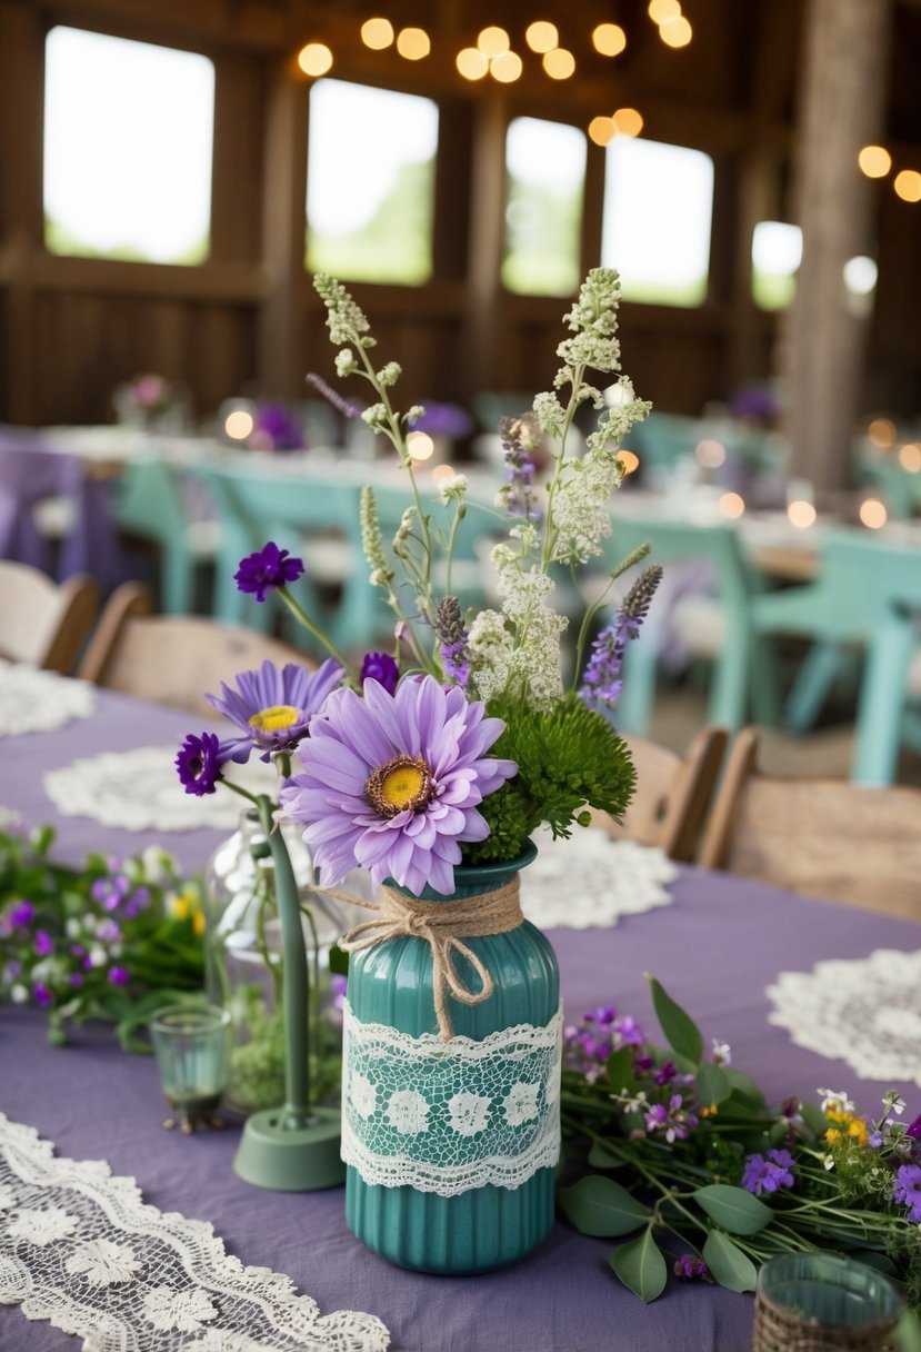
[[[99,588],[77,573],[63,583],[28,564],[0,561],[0,657],[69,676],[93,627]]]

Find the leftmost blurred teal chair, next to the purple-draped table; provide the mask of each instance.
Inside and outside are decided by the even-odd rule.
[[[167,615],[194,608],[196,572],[215,558],[216,523],[190,522],[176,470],[163,460],[128,461],[116,487],[119,530],[159,550],[159,603]]]

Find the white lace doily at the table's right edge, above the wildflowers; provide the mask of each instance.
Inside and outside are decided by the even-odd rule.
[[[921,1084],[921,949],[879,948],[781,972],[767,995],[768,1021],[798,1046],[847,1061],[866,1080]]]

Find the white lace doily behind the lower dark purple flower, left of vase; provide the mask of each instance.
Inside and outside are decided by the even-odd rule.
[[[200,826],[232,830],[244,806],[238,794],[221,790],[196,798],[186,794],[176,772],[178,741],[172,746],[138,746],[103,752],[47,771],[45,792],[65,817],[92,817],[104,826],[130,831],[192,831]],[[274,794],[278,776],[253,758],[228,765],[226,775],[253,794]]]

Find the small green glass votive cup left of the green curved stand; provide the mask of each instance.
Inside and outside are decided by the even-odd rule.
[[[213,1114],[227,1084],[230,1010],[170,1005],[151,1018],[150,1037],[163,1096],[182,1132],[216,1125]]]

